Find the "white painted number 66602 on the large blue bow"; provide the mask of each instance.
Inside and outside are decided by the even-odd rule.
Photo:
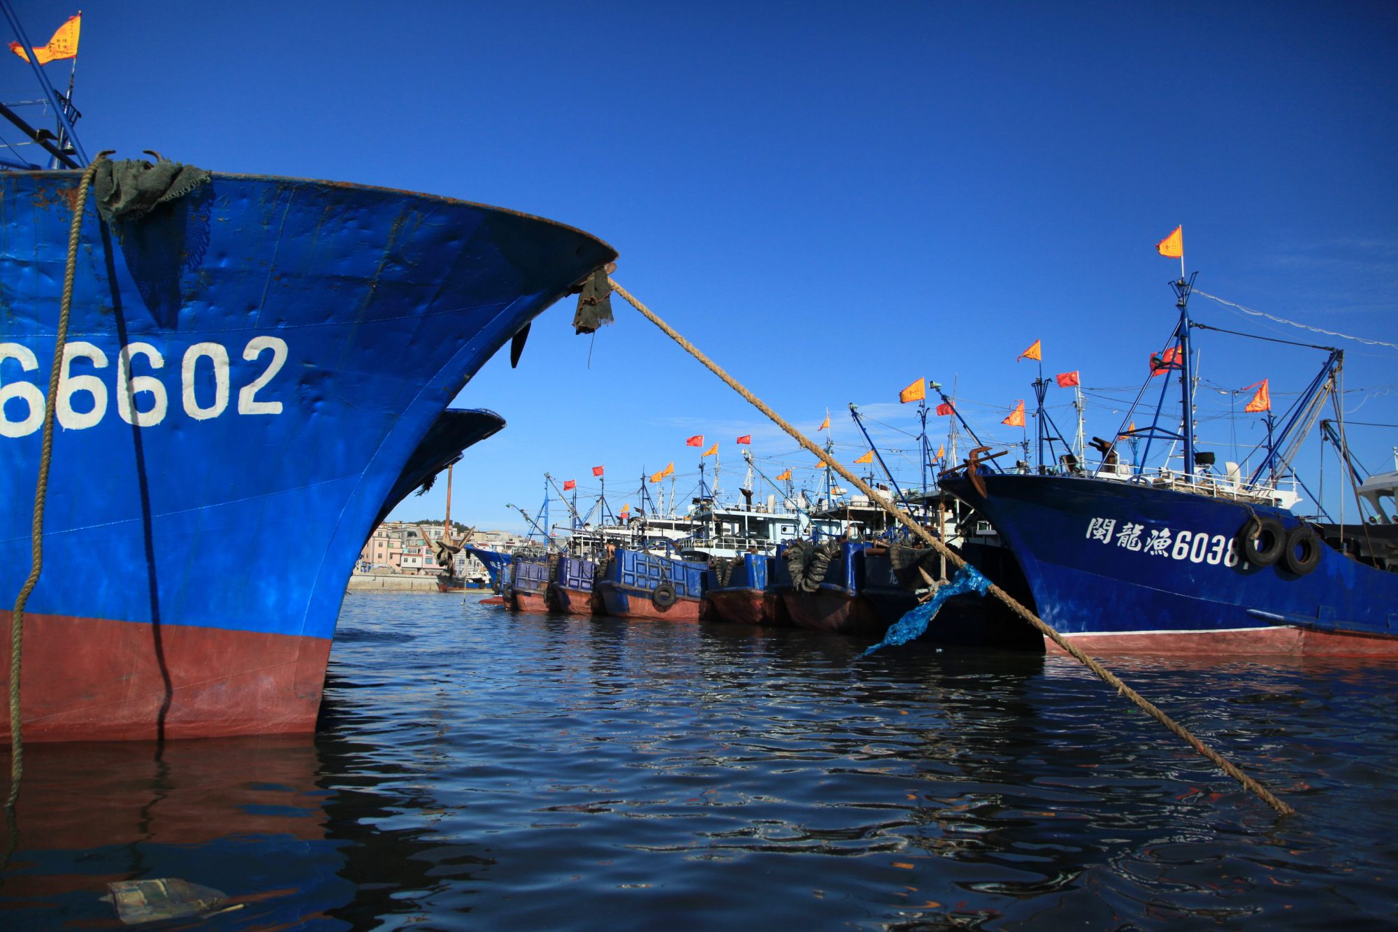
[[[261,400],[257,393],[267,388],[285,365],[287,341],[257,336],[243,347],[243,358],[250,362],[267,354],[270,360],[261,374],[238,389],[239,414],[281,414],[281,402]],[[0,343],[0,437],[28,437],[43,427],[43,392],[34,382],[6,382],[3,379],[6,360],[15,360],[24,372],[36,371],[39,360],[34,350],[24,344]],[[102,348],[82,340],[73,340],[63,347],[55,416],[66,430],[80,431],[95,427],[106,417],[108,386],[98,375],[74,375],[73,360],[87,360],[92,369],[105,369],[110,361]],[[116,397],[117,416],[136,427],[154,427],[169,413],[169,395],[161,379],[154,375],[136,375],[133,365],[162,369],[165,357],[150,343],[127,343],[116,354],[112,395]],[[185,350],[179,368],[179,404],[189,417],[207,421],[228,409],[231,395],[228,350],[221,343],[196,343]],[[207,376],[196,385],[200,369],[212,371],[212,385]],[[75,396],[85,396],[78,404],[82,410],[73,404]]]

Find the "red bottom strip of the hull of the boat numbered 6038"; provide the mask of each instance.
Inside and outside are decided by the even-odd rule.
[[[1067,634],[1088,654],[1176,654],[1239,656],[1373,656],[1398,658],[1398,638],[1336,634],[1289,626],[1232,631],[1128,631],[1124,634]],[[1064,651],[1044,638],[1044,651]]]

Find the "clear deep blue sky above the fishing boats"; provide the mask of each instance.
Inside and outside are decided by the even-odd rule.
[[[17,8],[35,42],[75,11]],[[89,153],[582,227],[618,249],[618,281],[784,417],[814,432],[829,407],[844,462],[868,448],[849,402],[881,446],[913,446],[914,406],[896,397],[918,376],[955,382],[979,431],[1016,441],[998,421],[1032,397],[1033,364],[1015,357],[1036,339],[1046,374],[1082,372],[1089,431],[1110,435],[1113,399],[1134,395],[1174,322],[1179,263],[1155,243],[1177,224],[1199,290],[1398,343],[1391,3],[102,1],[85,4],[77,78]],[[0,90],[25,88],[13,59]],[[795,465],[814,488],[809,453],[615,304],[596,340],[556,305],[517,369],[502,354],[457,399],[509,425],[457,467],[453,516],[523,528],[506,502],[533,512],[545,470],[586,501],[596,465],[614,507],[671,460],[685,497],[692,434],[721,444],[728,490],[749,432],[765,469]],[[1398,424],[1398,350],[1338,344],[1352,420]],[[1212,334],[1201,348],[1206,417],[1227,411],[1220,389],[1262,378],[1281,406],[1323,360]],[[1050,390],[1071,430],[1067,400]],[[1261,427],[1212,418],[1201,434],[1223,449]],[[1369,469],[1392,467],[1398,430],[1350,439]],[[1313,438],[1300,465],[1317,452]],[[1338,479],[1329,458],[1327,504]],[[440,515],[442,493],[397,516]]]

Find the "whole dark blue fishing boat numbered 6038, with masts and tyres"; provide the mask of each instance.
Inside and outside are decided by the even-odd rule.
[[[1071,460],[1039,474],[974,469],[942,487],[994,525],[1039,616],[1085,651],[1398,655],[1398,554],[1356,547],[1369,525],[1299,516],[1297,495],[1279,484],[1288,451],[1328,397],[1343,418],[1341,351],[1316,347],[1328,357],[1275,434],[1268,420],[1261,466],[1247,477],[1233,463],[1215,472],[1213,453],[1197,449],[1187,390],[1199,326],[1188,313],[1192,281],[1173,283],[1180,320],[1153,368],[1179,378],[1183,428],[1163,424],[1158,407],[1151,427],[1121,431],[1146,441],[1142,462],[1151,441],[1179,445],[1180,466],[1128,466],[1117,441],[1097,441],[1096,472]],[[1380,519],[1376,530],[1392,526],[1381,509]]]

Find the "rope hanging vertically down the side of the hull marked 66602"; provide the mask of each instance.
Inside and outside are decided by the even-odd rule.
[[[59,304],[59,333],[53,343],[53,371],[49,372],[49,395],[43,402],[43,451],[39,453],[39,481],[34,490],[34,525],[29,530],[32,542],[32,565],[29,578],[14,600],[10,616],[10,798],[7,809],[14,809],[20,798],[20,778],[24,777],[24,732],[20,726],[20,669],[24,655],[24,606],[29,593],[39,584],[43,572],[43,502],[49,495],[49,465],[53,462],[53,414],[59,397],[59,376],[63,374],[63,350],[69,341],[69,311],[73,306],[73,280],[77,277],[78,245],[82,241],[82,211],[87,207],[88,188],[96,167],[108,153],[99,153],[82,172],[78,182],[78,196],[73,204],[73,227],[69,231],[69,263],[63,271],[63,301]]]

